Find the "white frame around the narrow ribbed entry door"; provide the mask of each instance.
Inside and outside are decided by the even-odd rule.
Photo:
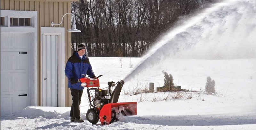
[[[57,35],[57,106],[65,107],[65,28],[64,27],[41,27],[41,66],[43,53],[43,35]],[[41,68],[41,96],[45,93],[43,86],[43,68]],[[41,104],[44,98],[41,97]]]

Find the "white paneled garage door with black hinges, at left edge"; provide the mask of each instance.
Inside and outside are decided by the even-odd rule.
[[[28,106],[28,33],[1,32],[1,115]]]

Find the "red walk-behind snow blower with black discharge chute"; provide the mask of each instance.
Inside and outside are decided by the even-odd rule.
[[[102,76],[102,75],[100,75]],[[102,125],[119,121],[121,116],[137,115],[137,102],[117,103],[124,81],[108,82],[107,89],[100,89],[99,77],[81,78],[81,86],[87,88],[90,109],[86,112],[86,119],[97,124],[99,119]],[[115,87],[111,93],[111,89]],[[94,93],[94,97],[93,94]]]

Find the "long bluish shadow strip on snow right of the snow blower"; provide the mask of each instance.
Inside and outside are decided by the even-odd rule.
[[[256,124],[255,115],[131,116],[124,122],[165,126],[223,126]]]

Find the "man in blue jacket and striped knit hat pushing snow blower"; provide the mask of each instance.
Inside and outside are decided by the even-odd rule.
[[[73,122],[84,122],[80,118],[81,98],[83,94],[84,87],[77,80],[89,75],[91,78],[95,77],[92,72],[92,66],[88,57],[85,55],[84,44],[79,44],[77,51],[73,53],[71,57],[68,58],[68,62],[65,68],[65,74],[68,77],[68,88],[70,88],[72,95],[72,105],[70,110],[70,121]]]

